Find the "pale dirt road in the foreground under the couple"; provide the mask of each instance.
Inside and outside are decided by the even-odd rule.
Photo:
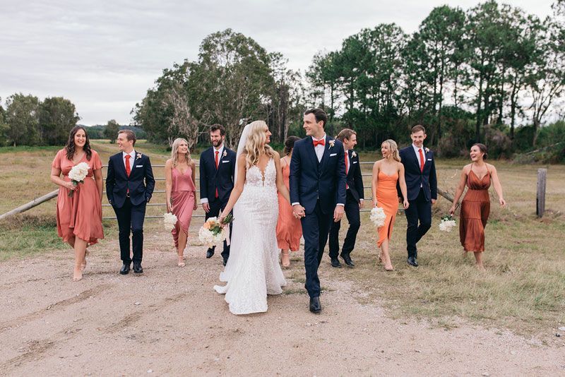
[[[359,304],[362,292],[328,263],[321,315],[289,278],[267,313],[234,316],[212,289],[220,256],[191,246],[177,268],[170,243],[146,236],[143,276],[117,273],[116,241],[93,247],[78,283],[70,250],[0,263],[0,375],[565,375],[563,341],[393,320]],[[295,262],[285,275],[302,270]]]

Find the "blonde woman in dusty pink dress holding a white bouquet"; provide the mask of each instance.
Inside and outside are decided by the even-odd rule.
[[[189,238],[192,212],[196,210],[196,176],[194,161],[190,157],[189,143],[177,138],[172,143],[171,158],[165,163],[165,195],[167,212],[177,216],[177,225],[172,229],[174,247],[179,260],[177,265],[184,267],[184,249]]]

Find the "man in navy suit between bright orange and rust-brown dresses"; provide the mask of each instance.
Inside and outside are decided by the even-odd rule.
[[[407,263],[418,266],[418,250],[416,244],[432,227],[432,205],[437,200],[437,177],[434,163],[434,152],[424,148],[426,128],[412,127],[412,145],[400,150],[400,159],[404,164],[404,178],[408,188],[408,203],[404,211],[408,228],[406,229]],[[398,200],[402,203],[402,193],[397,184]],[[418,225],[420,222],[420,225]]]

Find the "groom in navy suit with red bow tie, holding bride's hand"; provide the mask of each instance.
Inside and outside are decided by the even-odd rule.
[[[322,109],[304,112],[306,138],[298,140],[290,160],[292,213],[302,219],[304,267],[310,311],[320,313],[318,267],[332,221],[343,217],[345,205],[345,152],[343,144],[323,131],[328,115]]]

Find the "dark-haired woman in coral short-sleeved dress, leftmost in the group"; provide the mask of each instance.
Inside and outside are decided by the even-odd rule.
[[[90,169],[84,183],[74,186],[69,172],[80,162],[86,162]],[[74,127],[65,148],[57,152],[51,167],[51,181],[61,186],[57,196],[57,233],[75,251],[74,281],[83,278],[86,248],[104,238],[101,169],[100,156],[90,149],[85,128]],[[74,191],[72,197],[70,191]]]

